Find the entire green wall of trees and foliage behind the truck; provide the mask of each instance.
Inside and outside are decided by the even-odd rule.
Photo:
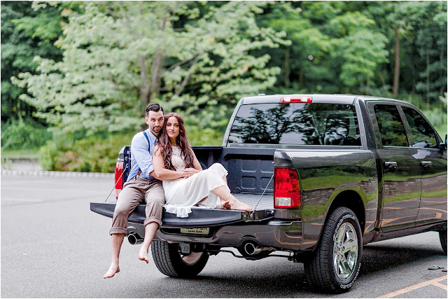
[[[258,93],[395,97],[446,134],[447,2],[2,1],[1,75],[2,147],[27,118],[66,146],[117,142],[112,161],[111,134],[141,130],[149,102],[217,145]],[[55,140],[45,157],[76,152]]]

